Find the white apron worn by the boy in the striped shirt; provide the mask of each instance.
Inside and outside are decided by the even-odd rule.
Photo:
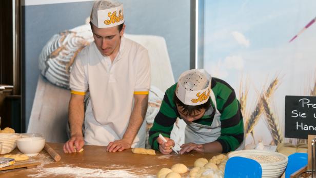
[[[214,142],[221,136],[221,113],[217,109],[215,95],[213,90],[210,90],[210,97],[214,104],[215,115],[211,126],[205,126],[197,123],[187,123],[185,128],[185,143],[196,143],[196,144],[205,144]],[[211,108],[212,109],[212,108]],[[212,110],[207,110],[206,112],[213,112]]]

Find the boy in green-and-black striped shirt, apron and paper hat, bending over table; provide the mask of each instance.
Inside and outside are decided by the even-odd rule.
[[[177,117],[187,124],[180,154],[192,150],[227,153],[243,142],[243,117],[234,90],[204,69],[184,72],[178,83],[167,89],[149,131],[149,144],[153,149],[171,153],[174,141],[170,133]],[[159,133],[167,142],[159,138]]]

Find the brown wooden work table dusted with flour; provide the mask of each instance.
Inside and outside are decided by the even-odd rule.
[[[161,168],[171,168],[172,165],[177,163],[183,163],[188,168],[192,168],[194,161],[200,157],[211,159],[214,153],[198,153],[190,152],[183,155],[177,155],[172,153],[171,155],[163,155],[156,151],[156,155],[141,155],[133,154],[131,149],[124,150],[122,152],[107,152],[104,146],[84,146],[84,151],[80,153],[64,153],[62,143],[48,143],[62,159],[59,162],[54,162],[46,151],[42,151],[39,155],[33,156],[32,159],[39,160],[42,165],[32,169],[16,169],[11,171],[0,172],[0,177],[34,177],[34,176],[49,176],[49,177],[86,177],[79,175],[78,172],[82,168],[88,168],[85,170],[100,169],[99,175],[106,176],[106,172],[114,172],[115,170],[128,171],[131,176],[134,177],[153,177]],[[18,150],[14,150],[18,152]],[[68,174],[45,174],[47,170],[57,170],[67,167],[68,170],[72,169],[76,172]],[[53,169],[49,169],[53,168]],[[41,174],[42,173],[42,174]],[[96,175],[96,174],[92,174]],[[120,177],[112,175],[109,177]],[[187,177],[188,174],[183,174],[183,177]],[[94,177],[97,177],[94,176]],[[128,177],[128,176],[124,176]]]

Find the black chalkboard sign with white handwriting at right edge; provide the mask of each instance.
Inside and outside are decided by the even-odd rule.
[[[316,96],[285,96],[285,137],[316,135]]]

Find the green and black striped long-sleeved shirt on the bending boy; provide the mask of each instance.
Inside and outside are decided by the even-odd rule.
[[[167,89],[159,113],[156,115],[153,126],[149,131],[149,144],[155,150],[159,150],[159,145],[156,141],[159,133],[170,138],[170,133],[176,118],[181,118],[173,101],[176,85],[177,83]],[[223,153],[227,153],[238,148],[244,140],[244,124],[241,106],[234,90],[225,81],[212,77],[211,89],[216,98],[217,109],[221,113],[221,135],[216,141],[221,143]],[[212,102],[211,105],[214,107]],[[199,120],[193,122],[211,126],[214,115],[215,110],[213,110],[211,114],[204,115]]]

